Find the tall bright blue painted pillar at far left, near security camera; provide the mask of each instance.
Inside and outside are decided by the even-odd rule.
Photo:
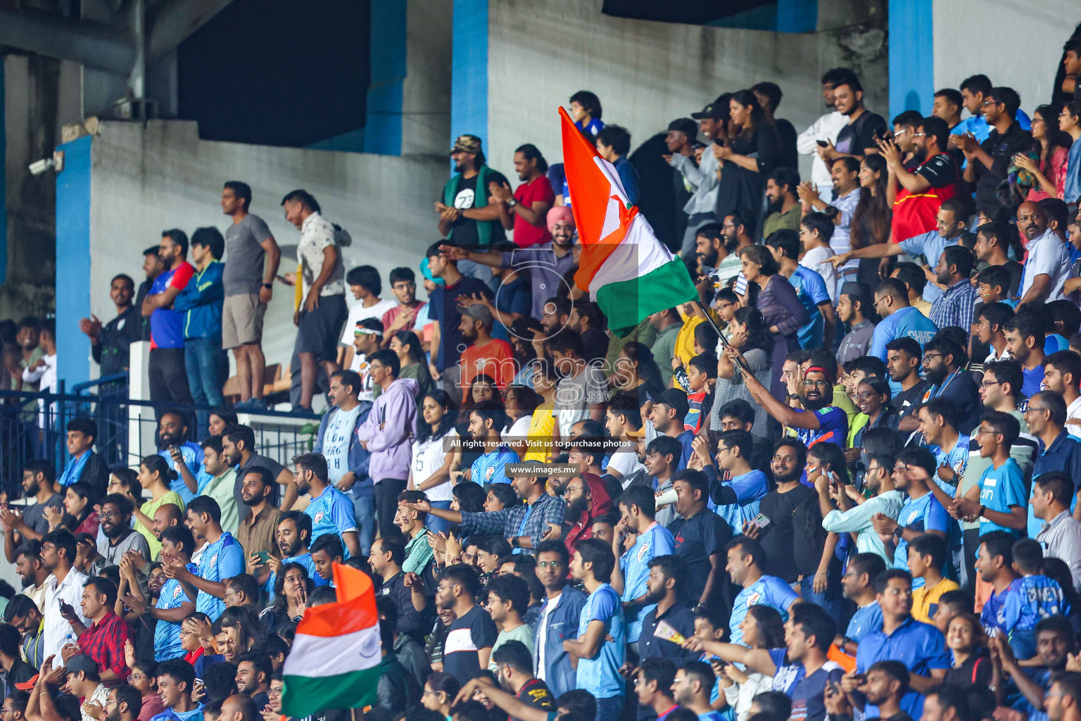
[[[56,175],[57,376],[70,388],[90,379],[90,339],[79,319],[90,315],[90,151],[93,137],[59,146]]]

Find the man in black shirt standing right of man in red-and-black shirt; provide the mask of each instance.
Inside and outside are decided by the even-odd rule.
[[[1019,107],[1020,97],[1012,88],[992,88],[980,108],[989,135],[980,142],[965,132],[957,143],[964,152],[964,181],[976,184],[976,210],[988,221],[1005,221],[1014,211],[999,199],[998,187],[1006,179],[1013,157],[1032,144],[1032,134],[1017,122]]]

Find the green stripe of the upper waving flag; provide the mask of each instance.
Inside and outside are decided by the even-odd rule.
[[[646,316],[697,299],[686,266],[678,257],[641,278],[606,283],[597,291],[597,304],[608,317],[609,329],[619,337]]]

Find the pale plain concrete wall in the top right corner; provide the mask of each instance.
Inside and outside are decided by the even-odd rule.
[[[996,85],[1016,90],[1022,108],[1031,115],[1051,99],[1063,43],[1081,22],[1081,4],[934,0],[933,17],[935,89],[957,88],[983,72]],[[1022,46],[1024,59],[1014,52]]]

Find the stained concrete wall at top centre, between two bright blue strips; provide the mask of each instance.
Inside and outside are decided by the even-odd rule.
[[[513,150],[522,143],[558,160],[556,108],[584,89],[600,96],[604,121],[630,131],[635,147],[722,92],[762,80],[785,93],[778,117],[803,130],[823,114],[822,72],[841,65],[860,70],[868,106],[886,111],[880,31],[871,31],[878,46],[866,48],[851,37],[858,31],[791,35],[651,23],[603,15],[601,5],[602,0],[489,2],[485,150],[494,168],[510,173]],[[803,165],[809,173],[810,157]]]

